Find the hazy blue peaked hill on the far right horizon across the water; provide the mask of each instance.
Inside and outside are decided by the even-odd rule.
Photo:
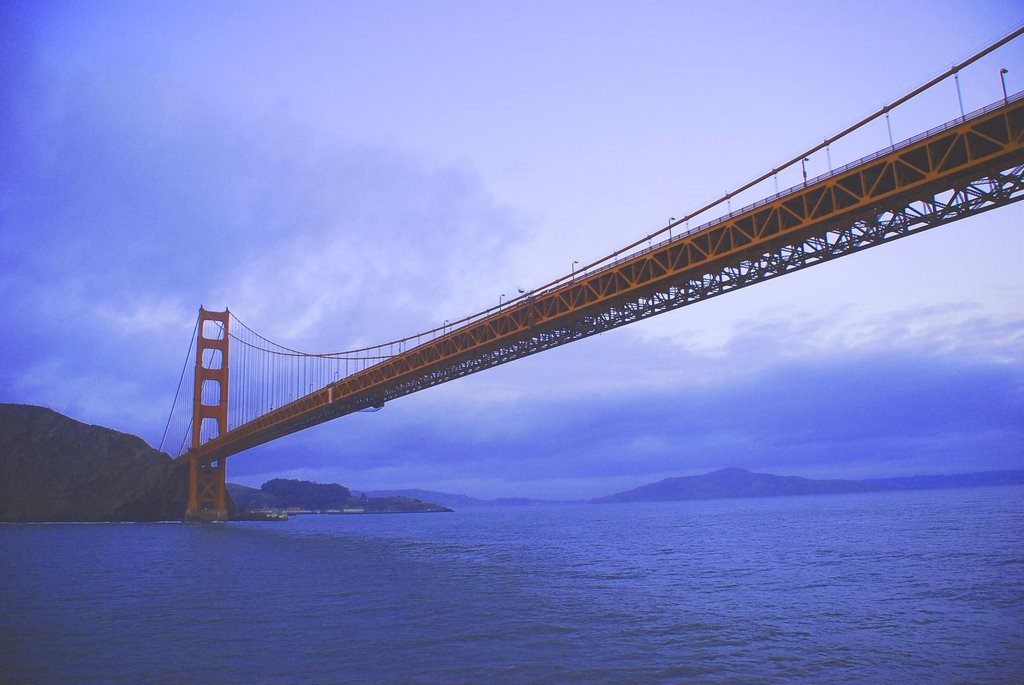
[[[596,498],[591,502],[675,502],[724,498],[781,497],[787,495],[835,495],[880,490],[936,487],[976,487],[1024,483],[1024,470],[990,471],[949,476],[910,476],[872,480],[815,480],[800,476],[776,476],[728,468],[699,476],[666,478],[625,493]]]

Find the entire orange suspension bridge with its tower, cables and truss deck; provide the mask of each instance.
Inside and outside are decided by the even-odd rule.
[[[959,117],[898,142],[890,128],[888,146],[815,178],[804,167],[810,155],[882,117],[888,123],[893,109],[950,77],[959,96],[959,71],[1021,34],[1024,28],[631,245],[462,319],[311,354],[268,340],[228,310],[200,308],[161,441],[189,465],[187,517],[226,518],[226,460],[250,447],[1024,199],[1024,92],[1009,95],[1005,80],[1002,97],[985,108],[965,113],[961,103]],[[797,164],[800,184],[688,228],[692,218]]]

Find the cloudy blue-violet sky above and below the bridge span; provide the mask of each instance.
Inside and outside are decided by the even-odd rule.
[[[309,351],[461,317],[741,185],[1022,10],[0,3],[0,400],[157,443],[201,304]],[[1001,96],[1002,67],[1024,89],[1024,41],[962,75],[968,110]],[[893,133],[957,115],[950,81]],[[879,122],[831,161],[886,144]],[[1022,219],[462,379],[233,457],[228,477],[584,498],[725,466],[1024,468]]]

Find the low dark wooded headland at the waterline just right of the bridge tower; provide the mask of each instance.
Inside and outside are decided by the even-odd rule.
[[[445,506],[402,496],[352,495],[344,485],[308,480],[274,478],[257,489],[227,483],[241,512],[265,509],[303,511],[349,511],[367,514],[428,513],[452,511]]]

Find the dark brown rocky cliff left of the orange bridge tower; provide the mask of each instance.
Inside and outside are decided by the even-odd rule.
[[[134,435],[0,404],[0,520],[180,520],[188,468]]]

